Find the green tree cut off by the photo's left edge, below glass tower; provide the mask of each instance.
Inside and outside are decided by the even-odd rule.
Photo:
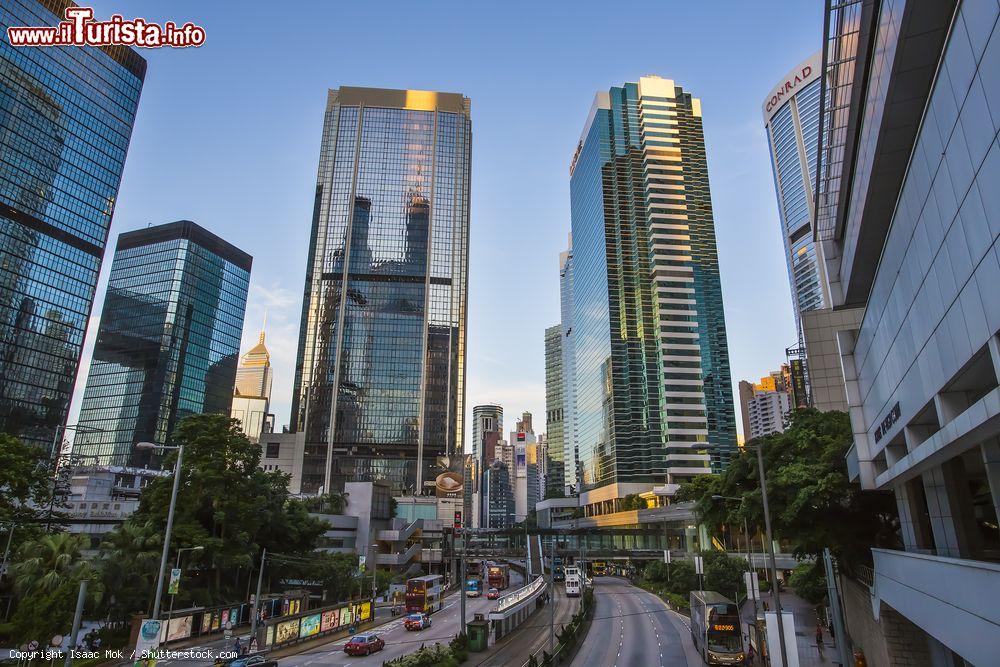
[[[52,470],[46,452],[0,433],[0,524],[17,526],[20,538],[37,534],[36,526],[52,493]],[[25,532],[28,531],[28,532]]]

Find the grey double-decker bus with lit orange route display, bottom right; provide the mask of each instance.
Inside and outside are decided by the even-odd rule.
[[[736,603],[715,591],[691,591],[691,640],[709,665],[743,664]]]

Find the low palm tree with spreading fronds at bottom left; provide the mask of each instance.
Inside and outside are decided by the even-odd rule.
[[[67,581],[90,576],[90,564],[83,559],[85,535],[54,533],[25,542],[17,550],[10,568],[14,590],[26,596],[51,593]]]

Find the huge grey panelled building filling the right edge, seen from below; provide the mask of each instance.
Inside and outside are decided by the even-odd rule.
[[[825,25],[833,302],[803,329],[814,391],[851,413],[848,474],[892,494],[902,541],[848,584],[846,626],[880,664],[997,664],[1000,6],[852,0]]]

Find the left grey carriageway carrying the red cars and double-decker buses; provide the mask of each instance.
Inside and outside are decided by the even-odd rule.
[[[508,591],[518,588],[522,584],[521,575],[514,571],[510,573],[511,587]],[[385,650],[379,651],[367,657],[351,657],[344,653],[344,644],[347,639],[339,639],[329,644],[316,646],[307,649],[296,655],[280,658],[278,663],[281,667],[306,667],[309,665],[381,665],[386,660],[398,658],[420,648],[421,644],[433,645],[440,642],[447,644],[459,630],[459,594],[449,595],[445,599],[444,607],[431,616],[431,627],[426,630],[410,631],[403,627],[403,617],[386,623],[372,630],[375,634],[385,640]],[[474,615],[486,614],[496,602],[487,600],[486,597],[466,598],[465,615],[466,620],[471,621]]]

